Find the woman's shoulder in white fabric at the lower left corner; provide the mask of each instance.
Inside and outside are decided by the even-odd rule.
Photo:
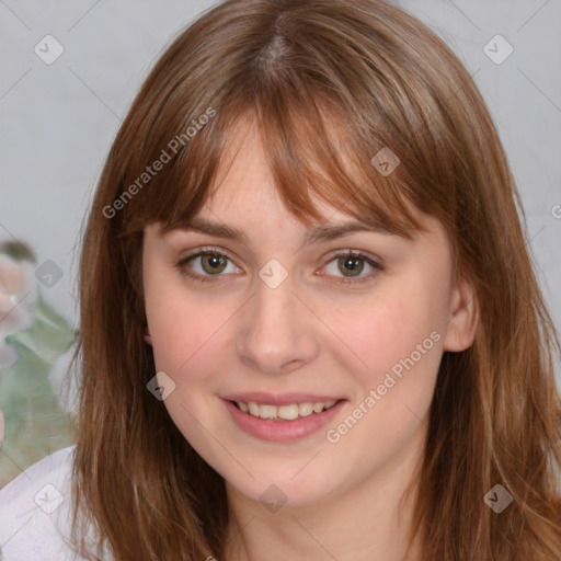
[[[27,468],[0,489],[1,561],[75,561],[70,546],[75,446]]]

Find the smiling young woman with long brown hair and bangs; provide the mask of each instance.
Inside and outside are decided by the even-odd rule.
[[[77,445],[30,471],[64,554],[558,560],[559,344],[518,204],[471,78],[398,8],[203,15],[90,213]]]

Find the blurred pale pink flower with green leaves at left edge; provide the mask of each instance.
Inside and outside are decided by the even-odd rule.
[[[49,373],[76,339],[72,325],[43,299],[27,245],[0,243],[0,411],[5,421],[0,486],[68,446],[72,426]],[[58,389],[58,388],[57,388]]]

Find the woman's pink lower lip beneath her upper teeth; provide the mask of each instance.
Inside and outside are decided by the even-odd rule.
[[[248,394],[243,396],[244,399],[237,399],[232,401],[245,402]],[[255,394],[252,393],[251,396]],[[283,396],[280,399],[285,400],[282,403],[278,403],[280,405],[295,402],[302,403],[304,401],[313,402],[312,399],[304,399],[302,401],[286,401],[286,396]],[[318,397],[313,397],[313,399],[318,399]],[[312,413],[309,416],[298,417],[294,421],[273,421],[271,419],[260,419],[250,415],[249,413],[244,413],[243,411],[239,410],[229,399],[222,398],[222,401],[239,428],[262,440],[278,443],[297,440],[318,432],[322,426],[327,425],[346,403],[346,400],[342,399],[337,401],[332,408],[328,409],[327,411],[322,411],[321,413]],[[328,400],[319,399],[318,401]],[[316,403],[318,401],[316,401]],[[260,401],[256,400],[254,402],[259,403]],[[261,403],[263,403],[263,401]],[[268,401],[268,403],[271,403],[271,401]]]

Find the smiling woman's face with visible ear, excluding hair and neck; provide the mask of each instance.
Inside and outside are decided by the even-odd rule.
[[[298,221],[238,134],[197,228],[146,228],[148,341],[169,414],[229,489],[320,504],[420,449],[442,354],[473,339],[470,294],[434,218],[414,240],[311,236],[354,220],[318,202],[325,219]]]

